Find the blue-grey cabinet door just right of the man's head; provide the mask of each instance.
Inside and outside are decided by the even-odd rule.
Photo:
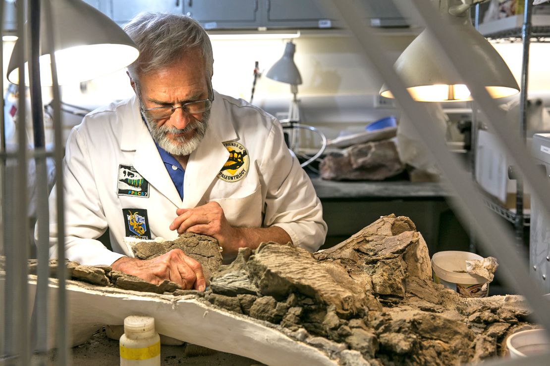
[[[260,26],[258,2],[263,0],[184,0],[184,14],[205,29],[256,28]]]

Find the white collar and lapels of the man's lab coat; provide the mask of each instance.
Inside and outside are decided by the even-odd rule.
[[[205,137],[199,147],[189,156],[185,168],[183,206],[174,183],[170,178],[149,129],[141,120],[139,103],[135,95],[123,107],[128,110],[123,114],[123,136],[120,148],[126,151],[135,151],[134,167],[163,195],[177,207],[192,208],[202,202],[208,187],[215,182],[219,171],[229,158],[229,151],[223,143],[237,140],[237,132],[230,119],[231,114],[226,110],[223,95],[214,92],[214,101],[210,114],[210,121]]]

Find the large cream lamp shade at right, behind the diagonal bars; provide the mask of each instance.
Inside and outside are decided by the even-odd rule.
[[[491,43],[472,26],[469,12],[456,16],[443,11],[442,16],[449,22],[452,32],[468,44],[470,53],[464,57],[477,65],[478,80],[489,95],[503,98],[518,93],[519,86],[510,69]],[[463,78],[454,71],[442,50],[434,46],[436,43],[431,32],[424,30],[395,62],[395,70],[411,97],[421,102],[472,100]],[[386,85],[382,86],[380,95],[393,98]]]

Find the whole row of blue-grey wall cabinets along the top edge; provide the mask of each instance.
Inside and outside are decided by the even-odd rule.
[[[343,27],[333,0],[84,0],[122,25],[144,11],[186,14],[207,30]],[[368,25],[409,24],[392,0],[345,0]]]

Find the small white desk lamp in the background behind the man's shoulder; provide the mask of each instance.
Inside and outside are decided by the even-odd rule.
[[[298,85],[302,83],[302,77],[298,67],[294,63],[295,51],[296,45],[292,43],[292,41],[287,42],[284,48],[283,57],[271,66],[266,76],[270,79],[290,84],[290,92],[293,94],[293,99],[288,110],[288,119],[299,121],[300,112],[296,94],[298,94]]]

